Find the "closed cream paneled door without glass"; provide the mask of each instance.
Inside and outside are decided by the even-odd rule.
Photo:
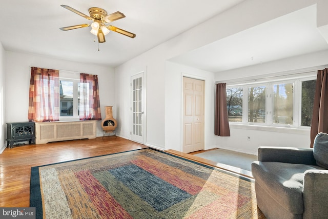
[[[204,147],[204,81],[183,77],[182,152]]]

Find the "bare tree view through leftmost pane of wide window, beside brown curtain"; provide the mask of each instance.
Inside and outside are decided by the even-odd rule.
[[[227,88],[229,122],[242,122],[242,88]]]

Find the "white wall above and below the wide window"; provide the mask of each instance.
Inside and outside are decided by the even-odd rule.
[[[246,68],[233,69],[217,72],[215,81],[227,82],[240,78],[261,78],[265,75],[281,75],[301,73],[302,71],[316,71],[328,66],[328,50],[306,54],[279,61],[263,63]],[[242,81],[242,80],[241,80]],[[218,148],[257,154],[260,146],[282,146],[282,147],[310,147],[310,129],[294,130],[291,128],[261,128],[258,126],[230,126],[230,137],[216,136]],[[251,140],[248,141],[247,137]]]

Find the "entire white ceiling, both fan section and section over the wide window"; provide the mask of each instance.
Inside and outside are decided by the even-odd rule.
[[[0,42],[5,50],[45,55],[70,61],[116,67],[179,35],[243,0],[10,0],[0,7]],[[63,8],[68,5],[88,15],[90,7],[125,18],[111,25],[136,34],[106,35],[94,42],[90,27],[61,31],[59,27],[90,24]],[[328,49],[316,27],[316,7],[311,6],[257,27],[181,54],[171,61],[211,72],[270,62]]]

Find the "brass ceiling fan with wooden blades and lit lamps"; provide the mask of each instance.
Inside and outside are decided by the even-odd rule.
[[[96,7],[92,7],[89,8],[89,14],[90,16],[79,12],[78,10],[67,6],[67,5],[60,5],[63,8],[66,8],[80,16],[83,16],[86,19],[89,19],[91,21],[93,21],[93,23],[90,24],[80,24],[80,25],[74,25],[74,26],[68,26],[68,27],[61,27],[59,28],[60,30],[73,30],[73,29],[77,29],[77,28],[83,28],[83,27],[90,27],[91,26],[91,33],[96,35],[98,37],[98,42],[99,43],[105,43],[105,35],[109,33],[110,30],[129,36],[131,38],[135,37],[134,33],[131,33],[129,31],[126,30],[122,30],[118,27],[114,27],[111,25],[106,25],[107,23],[111,23],[113,21],[116,21],[118,19],[124,18],[125,15],[119,11],[116,11],[112,14],[107,15],[107,11],[105,11],[104,9],[101,8],[96,8]]]

